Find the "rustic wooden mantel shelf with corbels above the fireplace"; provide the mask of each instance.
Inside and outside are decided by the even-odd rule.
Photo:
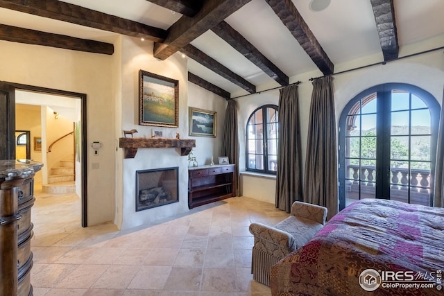
[[[196,140],[163,138],[119,138],[119,147],[125,148],[125,158],[134,158],[138,148],[180,148],[180,155],[189,155]]]

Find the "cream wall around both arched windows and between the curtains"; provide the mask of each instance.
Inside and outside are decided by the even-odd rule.
[[[353,69],[364,64],[376,62],[375,57],[367,57],[361,60],[355,60],[347,64],[336,65],[337,71]],[[302,146],[302,164],[305,164],[305,156],[307,151],[307,130],[309,123],[309,110],[311,103],[312,85],[309,78],[320,76],[319,73],[304,73],[300,76],[290,78],[290,82],[298,80],[302,83],[298,87],[299,103],[300,103],[300,125],[301,125],[301,146]],[[354,96],[360,92],[388,82],[402,82],[416,85],[427,92],[430,92],[441,104],[443,98],[443,82],[444,82],[444,56],[442,51],[434,51],[415,57],[388,62],[385,65],[377,65],[365,69],[350,71],[334,76],[334,101],[336,112],[336,126],[339,125],[339,117],[345,105]],[[253,96],[246,96],[237,99],[239,103],[239,137],[240,137],[240,163],[245,164],[245,128],[246,121],[251,112],[260,105],[273,103],[278,105],[279,92],[271,91]],[[337,130],[336,130],[337,132]],[[242,167],[241,167],[242,169]],[[241,170],[242,171],[242,170]],[[302,177],[305,167],[302,168]],[[243,195],[258,200],[269,200],[269,196],[275,193],[275,182],[268,180],[267,186],[264,186],[264,180],[261,177],[242,177]],[[264,190],[257,190],[257,185],[262,182]],[[273,198],[274,202],[274,198]]]

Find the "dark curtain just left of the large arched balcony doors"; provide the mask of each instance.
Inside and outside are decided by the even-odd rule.
[[[329,76],[313,81],[304,182],[304,201],[327,207],[327,219],[338,212],[337,173],[336,116]]]

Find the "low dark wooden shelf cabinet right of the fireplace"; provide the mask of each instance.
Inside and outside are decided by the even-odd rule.
[[[234,164],[196,166],[188,168],[188,207],[233,196]]]

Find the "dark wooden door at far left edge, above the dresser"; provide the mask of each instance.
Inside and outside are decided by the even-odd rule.
[[[0,159],[15,159],[15,87],[1,81]]]

